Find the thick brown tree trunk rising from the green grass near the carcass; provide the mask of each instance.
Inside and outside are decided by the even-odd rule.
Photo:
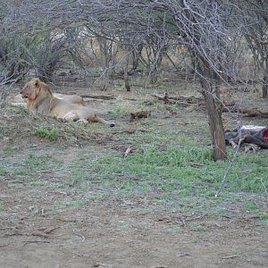
[[[226,159],[225,137],[222,125],[222,104],[217,104],[213,96],[212,71],[205,66],[199,70],[199,79],[208,114],[209,129],[214,147],[214,161]],[[219,105],[219,106],[218,106]]]

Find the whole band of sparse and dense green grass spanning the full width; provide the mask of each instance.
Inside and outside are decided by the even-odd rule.
[[[98,154],[88,147],[81,148],[80,155],[65,164],[61,156],[53,153],[28,154],[21,159],[8,156],[0,163],[0,180],[11,178],[10,185],[14,187],[21,181],[25,187],[40,190],[52,187],[47,176],[62,178],[56,188],[71,191],[78,198],[73,202],[61,201],[54,209],[87,206],[110,198],[145,199],[148,205],[164,211],[214,216],[226,214],[230,206],[239,206],[240,210],[260,214],[261,221],[267,222],[264,205],[258,204],[257,196],[264,195],[264,186],[268,187],[267,156],[239,153],[222,194],[215,198],[232,150],[228,161],[215,163],[210,148],[197,146],[183,135],[172,141],[168,136],[151,132],[128,138],[136,152],[127,157],[105,147]]]

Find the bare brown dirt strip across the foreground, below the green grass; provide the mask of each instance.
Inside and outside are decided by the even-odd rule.
[[[19,201],[19,200],[18,200]],[[20,200],[22,201],[22,200]],[[28,202],[24,205],[27,207]],[[13,210],[15,209],[13,204]],[[1,267],[264,267],[267,229],[251,219],[201,219],[92,204],[57,218],[29,209],[1,218]],[[11,217],[17,221],[10,221]],[[174,222],[170,218],[176,218]],[[49,232],[46,233],[46,230]],[[50,231],[51,230],[51,231]]]

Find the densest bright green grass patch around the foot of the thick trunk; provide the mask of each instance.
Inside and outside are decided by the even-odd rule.
[[[228,164],[214,163],[211,150],[202,147],[163,149],[153,145],[145,147],[144,153],[138,152],[126,158],[121,155],[106,156],[95,164],[93,172],[113,180],[124,174],[128,186],[154,187],[162,191],[181,190],[181,193],[188,195],[188,188],[195,193],[219,187]],[[140,180],[131,180],[131,177]],[[256,155],[240,155],[230,171],[228,185],[231,190],[261,193],[264,188],[260,178],[267,184],[266,160],[260,160]],[[125,184],[126,181],[123,182]]]

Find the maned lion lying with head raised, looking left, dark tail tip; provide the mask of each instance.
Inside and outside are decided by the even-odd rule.
[[[54,96],[48,85],[39,79],[30,80],[22,88],[21,96],[27,99],[27,107],[33,113],[64,121],[102,122],[114,126],[113,122],[98,117],[88,106]]]

